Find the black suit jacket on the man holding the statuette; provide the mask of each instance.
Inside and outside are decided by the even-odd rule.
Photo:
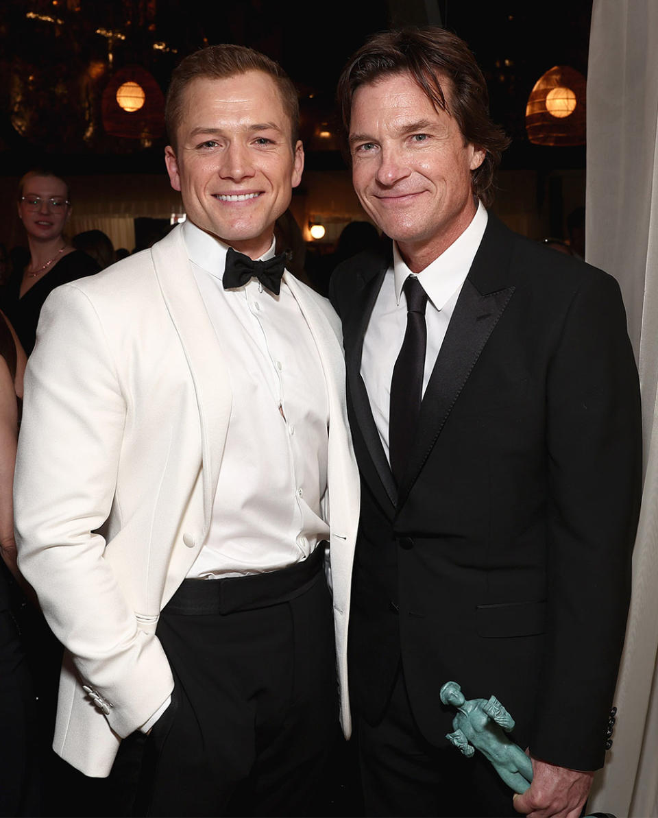
[[[414,717],[445,744],[439,690],[495,694],[513,737],[602,766],[641,485],[638,375],[616,281],[492,215],[420,411],[399,488],[360,357],[390,258],[338,267],[362,482],[351,685],[369,721],[401,659]]]

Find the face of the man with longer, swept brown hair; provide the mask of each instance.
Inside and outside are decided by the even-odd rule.
[[[441,255],[475,215],[471,171],[485,151],[464,144],[457,122],[436,110],[410,74],[356,88],[350,152],[361,205],[414,272]]]

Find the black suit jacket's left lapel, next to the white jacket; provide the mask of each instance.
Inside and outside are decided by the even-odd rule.
[[[356,326],[351,328],[353,336],[351,336],[350,343],[346,344],[345,363],[347,367],[347,389],[350,393],[352,411],[369,460],[372,463],[372,468],[370,468],[361,457],[361,472],[364,474],[365,479],[369,481],[374,492],[381,494],[381,488],[383,487],[386,497],[395,506],[397,502],[396,483],[374,422],[365,383],[360,374],[365,330],[368,328],[370,315],[373,312],[379,290],[381,290],[388,264],[388,258],[381,258],[378,266],[372,268],[369,274],[365,273],[362,276],[363,287],[355,295],[354,311],[352,313],[356,316],[357,323]]]

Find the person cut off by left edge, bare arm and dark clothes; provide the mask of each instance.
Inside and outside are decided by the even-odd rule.
[[[34,592],[16,567],[11,498],[23,397],[25,352],[0,312],[0,816],[40,815],[36,701],[16,625],[18,609]]]

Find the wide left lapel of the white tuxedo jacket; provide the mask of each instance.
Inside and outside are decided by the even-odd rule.
[[[199,293],[181,228],[151,248],[155,276],[176,327],[195,384],[199,405],[204,482],[204,536],[213,510],[219,465],[231,417],[228,369],[213,325]]]

